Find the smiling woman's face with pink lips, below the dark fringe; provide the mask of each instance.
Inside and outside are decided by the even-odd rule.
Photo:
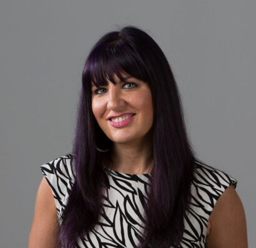
[[[130,77],[120,82],[114,75],[116,85],[108,80],[108,85],[97,88],[92,84],[92,112],[102,131],[114,143],[130,143],[143,141],[152,127],[154,110],[149,85],[144,81]],[[126,120],[127,115],[135,114]],[[116,120],[109,117],[122,115]]]

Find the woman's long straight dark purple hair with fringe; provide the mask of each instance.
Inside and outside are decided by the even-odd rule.
[[[146,229],[140,246],[178,246],[184,232],[184,215],[190,203],[194,151],[186,133],[177,84],[159,45],[145,31],[126,26],[108,32],[92,47],[82,72],[72,154],[76,180],[62,214],[58,245],[71,248],[97,224],[102,209],[102,186],[107,186],[102,159],[111,160],[112,141],[96,122],[91,107],[91,83],[107,85],[121,72],[149,84],[154,106],[152,126],[152,187],[145,206]],[[104,156],[103,156],[104,155]]]

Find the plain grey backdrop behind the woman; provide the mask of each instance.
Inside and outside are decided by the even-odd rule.
[[[197,156],[238,179],[255,244],[256,1],[0,3],[0,247],[27,247],[39,166],[72,148],[82,65],[107,31],[135,25],[169,59]]]

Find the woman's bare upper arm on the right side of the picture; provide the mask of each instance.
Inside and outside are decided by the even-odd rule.
[[[220,196],[210,214],[207,248],[248,248],[245,211],[234,186]]]

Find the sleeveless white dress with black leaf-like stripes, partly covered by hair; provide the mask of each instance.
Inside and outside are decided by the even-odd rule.
[[[40,166],[51,186],[59,224],[76,178],[71,166],[73,159],[72,154],[67,154]],[[151,175],[120,173],[104,165],[102,167],[110,183],[104,195],[104,211],[98,224],[89,235],[77,241],[76,247],[137,247],[137,237],[143,235],[145,228],[142,203],[147,199]],[[229,174],[198,162],[194,166],[194,175],[192,199],[184,217],[181,248],[205,247],[207,224],[215,203],[231,184],[234,188],[237,186],[237,179]]]

